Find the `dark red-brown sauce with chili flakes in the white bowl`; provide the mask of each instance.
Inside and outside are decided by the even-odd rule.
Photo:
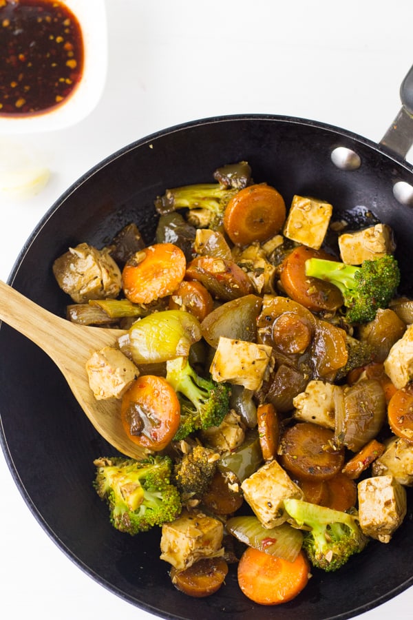
[[[0,0],[0,116],[28,116],[61,105],[82,72],[81,27],[67,6],[56,0]]]

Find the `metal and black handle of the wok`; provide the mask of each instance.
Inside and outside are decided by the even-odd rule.
[[[405,158],[413,145],[413,66],[400,87],[401,110],[380,144]]]

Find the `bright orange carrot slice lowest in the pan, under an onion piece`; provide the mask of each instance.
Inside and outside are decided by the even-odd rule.
[[[238,564],[238,583],[244,595],[260,605],[279,605],[294,599],[310,576],[304,552],[293,562],[248,547]]]

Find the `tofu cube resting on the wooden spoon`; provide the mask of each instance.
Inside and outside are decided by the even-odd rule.
[[[134,362],[114,347],[95,351],[86,362],[86,371],[96,400],[122,398],[139,376]]]

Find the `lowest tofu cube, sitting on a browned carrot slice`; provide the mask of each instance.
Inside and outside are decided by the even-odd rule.
[[[199,559],[222,556],[223,536],[221,521],[200,511],[184,510],[178,519],[162,525],[160,559],[182,570]]]

